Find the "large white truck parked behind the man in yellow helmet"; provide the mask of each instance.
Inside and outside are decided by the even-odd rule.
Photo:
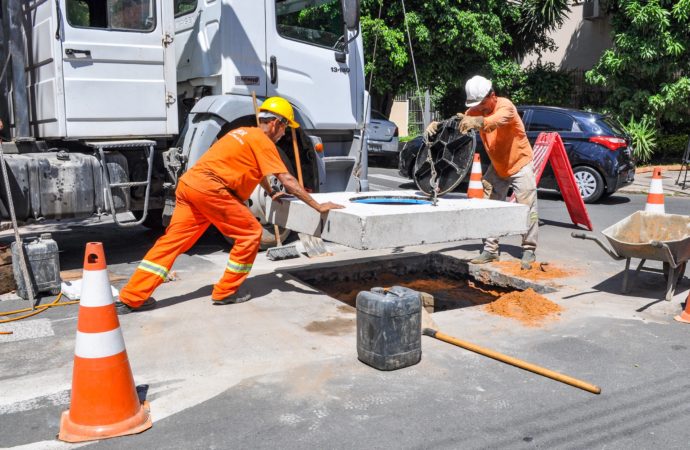
[[[359,0],[3,3],[3,149],[20,221],[165,224],[178,177],[255,123],[252,91],[294,106],[307,189],[368,190]],[[294,170],[289,135],[279,150]],[[248,203],[265,224],[263,198]],[[9,200],[0,182],[2,221]],[[137,219],[119,220],[126,211]]]

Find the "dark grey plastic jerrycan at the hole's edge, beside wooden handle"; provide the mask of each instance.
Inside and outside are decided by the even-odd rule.
[[[417,291],[393,286],[357,294],[357,357],[378,370],[422,359],[422,300]]]

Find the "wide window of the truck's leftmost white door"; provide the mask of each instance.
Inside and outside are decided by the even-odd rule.
[[[156,28],[153,0],[66,0],[67,22],[77,28],[149,32]]]

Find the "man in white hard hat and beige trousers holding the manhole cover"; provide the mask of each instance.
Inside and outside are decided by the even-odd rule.
[[[529,208],[527,233],[522,236],[522,269],[529,269],[536,260],[537,233],[537,182],[532,164],[532,146],[527,140],[525,125],[515,105],[504,97],[497,97],[490,80],[476,75],[465,84],[469,108],[458,114],[460,132],[478,130],[486,149],[491,167],[484,174],[484,197],[506,200],[508,190],[513,189],[518,203]],[[435,133],[438,124],[430,124],[427,133]],[[484,240],[481,254],[472,259],[474,264],[498,260],[498,239]]]

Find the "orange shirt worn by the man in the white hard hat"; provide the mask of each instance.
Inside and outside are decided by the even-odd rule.
[[[482,115],[473,108],[466,114]],[[496,174],[501,178],[515,175],[532,161],[532,146],[527,140],[525,125],[513,102],[507,98],[496,97],[496,107],[491,114],[484,116],[479,136]]]

